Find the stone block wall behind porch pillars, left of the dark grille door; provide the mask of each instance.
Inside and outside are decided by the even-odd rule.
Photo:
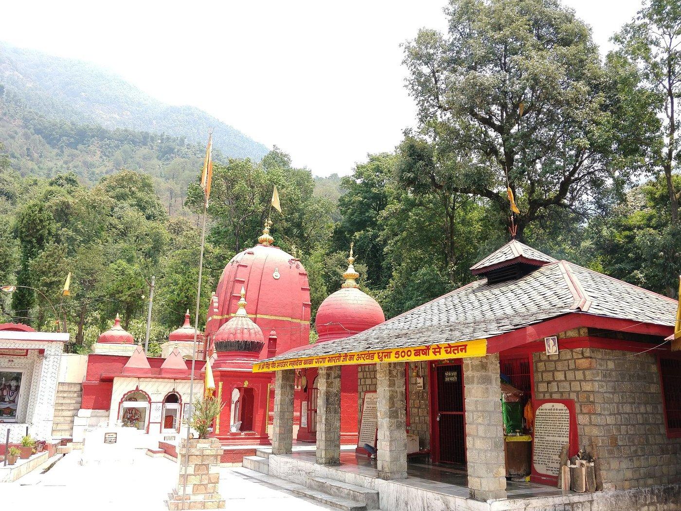
[[[398,363],[398,362],[396,362]],[[416,378],[423,377],[424,388],[417,390]],[[430,448],[430,397],[428,390],[428,362],[409,362],[409,433],[419,437],[419,447]],[[376,366],[360,365],[358,367],[358,431],[362,422],[362,403],[364,394],[376,390]]]

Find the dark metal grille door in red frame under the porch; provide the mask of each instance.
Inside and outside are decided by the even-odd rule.
[[[466,463],[464,387],[461,365],[437,367],[437,429],[439,461]]]

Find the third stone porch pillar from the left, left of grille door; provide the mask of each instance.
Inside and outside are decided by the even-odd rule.
[[[407,402],[404,363],[376,365],[378,394],[377,467],[381,479],[407,477]]]

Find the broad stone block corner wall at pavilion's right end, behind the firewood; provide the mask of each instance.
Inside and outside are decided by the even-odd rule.
[[[600,460],[603,489],[678,482],[681,439],[667,438],[656,356],[618,350],[533,354],[535,399],[574,399],[580,446]]]

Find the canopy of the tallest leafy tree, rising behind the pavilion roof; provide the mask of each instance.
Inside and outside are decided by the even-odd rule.
[[[423,29],[405,48],[419,125],[402,181],[505,215],[508,185],[518,238],[554,208],[584,212],[627,169],[588,27],[557,0],[452,0],[447,14],[447,34]]]

